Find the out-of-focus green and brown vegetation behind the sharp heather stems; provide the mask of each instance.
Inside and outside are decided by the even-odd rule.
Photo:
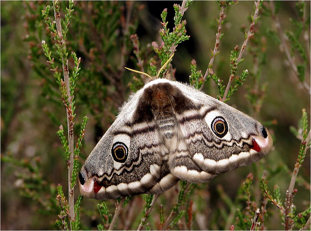
[[[132,30],[139,36],[141,49],[152,50],[150,48],[151,42],[157,41],[159,43],[160,14],[165,8],[168,9],[168,26],[173,28],[173,3],[181,4],[181,2],[170,1],[133,2],[132,7],[135,10],[131,15],[133,27],[130,31]],[[1,156],[9,155],[16,160],[15,163],[1,161],[2,230],[57,229],[54,222],[57,219],[58,211],[53,213],[56,204],[51,202],[56,196],[55,192],[53,194],[53,188],[61,183],[64,186],[64,192],[67,192],[65,189],[68,176],[67,165],[61,155],[63,151],[60,140],[56,135],[59,125],[63,124],[65,126],[67,124],[65,108],[62,105],[60,93],[51,93],[51,91],[58,91],[57,85],[55,83],[54,85],[51,84],[53,86],[52,90],[49,89],[49,81],[53,82],[54,77],[53,73],[49,71],[46,57],[41,48],[41,40],[46,40],[49,44],[53,42],[44,19],[40,15],[41,9],[45,9],[47,4],[51,3],[1,1]],[[77,93],[75,96],[77,107],[76,125],[81,123],[84,115],[90,117],[90,121],[86,125],[84,146],[81,154],[82,163],[99,138],[114,121],[118,106],[121,106],[131,92],[128,83],[132,79],[132,73],[122,71],[121,83],[124,86],[124,95],[118,99],[111,98],[109,93],[115,92],[116,88],[109,85],[109,81],[99,70],[103,60],[96,59],[96,57],[100,57],[100,52],[98,48],[95,49],[96,36],[90,33],[92,27],[89,25],[90,21],[87,20],[87,17],[91,17],[91,21],[95,25],[94,30],[103,32],[103,35],[100,34],[97,38],[106,39],[108,35],[104,34],[104,32],[108,33],[111,28],[109,28],[109,25],[105,26],[104,22],[109,22],[112,16],[108,16],[107,20],[103,20],[103,22],[100,22],[101,18],[97,16],[101,14],[101,11],[109,12],[109,9],[120,14],[116,17],[115,23],[117,26],[115,31],[111,32],[111,34],[115,35],[111,49],[105,43],[106,45],[102,46],[103,50],[101,51],[107,54],[106,62],[112,66],[112,69],[115,68],[114,72],[120,73],[116,66],[119,63],[119,46],[123,41],[122,36],[124,34],[119,24],[123,13],[126,11],[124,10],[126,4],[128,3],[75,2],[74,5],[75,11],[72,13],[67,35],[67,49],[69,54],[74,51],[78,57],[81,57],[81,74],[77,80]],[[269,2],[265,4],[269,6]],[[280,4],[278,16],[284,32],[297,30],[297,26],[291,22],[291,19],[299,20],[295,4],[296,2],[293,1],[283,1]],[[310,46],[306,45],[310,45],[310,2],[307,1],[305,4],[306,18],[309,19],[306,34],[309,37],[306,42],[303,36],[301,36],[300,40],[305,52],[310,53]],[[62,10],[65,6],[67,6],[67,2],[62,2]],[[99,9],[99,12],[96,9]],[[204,75],[210,61],[211,50],[215,46],[216,19],[219,18],[219,12],[218,3],[214,1],[195,1],[185,12],[184,19],[187,20],[186,29],[190,39],[177,47],[177,52],[175,52],[172,61],[173,67],[176,68],[175,77],[177,80],[188,82],[192,59],[197,61],[197,69],[202,70]],[[237,5],[225,8],[227,17],[222,25],[224,35],[218,48],[220,53],[213,64],[214,72],[220,79],[224,80],[223,84],[225,85],[230,76],[230,51],[233,50],[235,45],[241,47],[244,41],[244,31],[249,28],[249,17],[252,14],[254,14],[254,3],[252,1],[241,1]],[[238,75],[245,69],[248,69],[251,74],[244,82],[244,85],[234,93],[227,103],[250,116],[255,116],[256,119],[266,125],[274,138],[274,147],[260,161],[260,165],[253,164],[241,167],[217,176],[211,182],[197,186],[193,193],[193,200],[195,201],[193,229],[225,229],[224,219],[216,218],[216,215],[221,213],[221,209],[228,212],[230,208],[225,206],[217,188],[223,187],[225,193],[234,200],[240,184],[249,172],[257,172],[258,174],[254,175],[258,181],[263,169],[275,170],[282,166],[280,171],[271,175],[268,187],[272,191],[273,186],[278,184],[284,202],[291,171],[294,169],[301,143],[290,132],[290,126],[298,126],[303,108],[306,109],[308,120],[310,120],[310,93],[301,86],[288,65],[289,63],[283,52],[284,48],[269,35],[271,34],[269,30],[276,30],[272,17],[264,16],[262,11],[260,11],[259,15],[260,18],[254,30],[256,41],[249,41],[243,55],[244,61],[238,69]],[[291,47],[290,41],[287,40],[286,43]],[[129,44],[131,43],[129,42]],[[253,50],[250,50],[251,47]],[[87,52],[83,48],[86,48]],[[252,55],[254,48],[258,48],[260,51],[258,54],[260,54],[259,61],[261,61],[261,64],[259,68],[261,72],[258,84],[259,86],[264,84],[267,86],[262,107],[258,114],[255,113],[246,97],[249,89],[255,88],[252,80],[254,78],[252,73],[254,72],[254,66],[256,66]],[[94,60],[85,55],[85,53],[88,53],[91,56],[92,52],[95,56]],[[137,69],[135,65],[137,60],[133,52],[131,50],[128,50],[128,52],[128,60],[125,60],[125,65]],[[292,51],[292,54],[297,63],[301,62],[295,50]],[[53,55],[55,60],[58,59],[55,51],[53,51]],[[72,60],[69,60],[71,67],[73,66],[72,63]],[[94,63],[97,63],[97,66]],[[108,64],[105,64],[106,66],[103,64],[104,68]],[[305,76],[305,82],[310,87],[310,60],[306,65]],[[203,91],[213,97],[219,94],[216,84],[212,80],[205,83]],[[58,97],[57,94],[59,94]],[[78,130],[78,127],[76,130]],[[30,172],[29,168],[25,168],[28,163],[32,166],[38,165],[38,172]],[[32,195],[27,192],[28,189],[25,186],[27,184],[26,176],[31,179],[30,184],[32,187],[42,187],[36,188],[38,194]],[[305,161],[299,170],[299,176],[301,181],[295,186],[298,193],[294,197],[297,212],[305,210],[310,203],[310,150],[308,150]],[[35,179],[38,182],[35,182]],[[260,194],[259,184],[255,183],[253,187],[255,194]],[[174,190],[172,188],[172,190],[165,193],[160,197],[159,201],[165,203],[165,200],[169,200],[169,204],[173,204],[174,200],[170,200],[174,198]],[[78,190],[76,192],[78,194]],[[139,196],[135,197],[137,197],[135,199],[137,209],[131,211],[131,213],[134,216],[140,216],[143,201]],[[81,222],[84,226],[82,225],[82,229],[96,229],[97,223],[100,222],[95,204],[96,201],[94,200],[86,198],[83,200],[84,213],[81,212]],[[206,207],[203,205],[206,205]],[[283,226],[275,207],[270,202],[267,207],[270,210],[266,220],[267,228],[282,229]],[[169,213],[171,207],[167,206],[165,209]],[[110,211],[114,211],[113,200],[110,204]],[[154,215],[151,214],[151,220],[157,220],[156,211],[153,212]],[[125,214],[126,212],[124,212],[124,216]],[[125,218],[121,216],[120,219],[122,221]],[[201,223],[200,219],[203,219]],[[129,229],[135,229],[135,227],[137,226],[129,226]],[[156,229],[153,223],[151,227]],[[119,227],[119,229],[123,228],[123,226]],[[175,228],[178,229],[178,227]]]

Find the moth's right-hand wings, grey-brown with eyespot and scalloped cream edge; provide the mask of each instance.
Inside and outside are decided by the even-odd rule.
[[[169,162],[175,176],[205,182],[257,161],[271,149],[271,135],[258,121],[191,87],[174,84],[180,90],[175,99],[176,151]]]

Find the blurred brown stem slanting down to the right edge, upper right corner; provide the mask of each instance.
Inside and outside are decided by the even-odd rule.
[[[290,51],[289,51],[289,48],[286,44],[286,39],[285,39],[285,35],[282,31],[282,28],[281,28],[281,23],[280,23],[280,20],[279,20],[279,17],[274,13],[275,12],[275,7],[274,7],[274,3],[273,1],[270,1],[270,8],[271,8],[271,15],[272,15],[272,19],[274,20],[275,22],[275,26],[276,26],[276,29],[277,29],[277,32],[279,33],[280,35],[280,38],[281,38],[281,43],[282,43],[282,46],[284,48],[284,52],[285,52],[285,55],[286,55],[286,58],[287,58],[287,61],[288,63],[290,64],[290,67],[293,69],[294,73],[295,73],[295,77],[296,79],[298,80],[298,83],[301,83],[301,81],[299,80],[299,77],[298,77],[298,70],[297,70],[297,66],[295,64],[295,60],[293,59],[293,57],[291,57],[290,55]],[[309,43],[309,41],[308,41]],[[308,53],[308,52],[307,52]],[[308,93],[310,94],[311,90],[310,90],[310,85],[307,84],[305,81],[303,83],[301,83],[302,86],[308,91]]]

